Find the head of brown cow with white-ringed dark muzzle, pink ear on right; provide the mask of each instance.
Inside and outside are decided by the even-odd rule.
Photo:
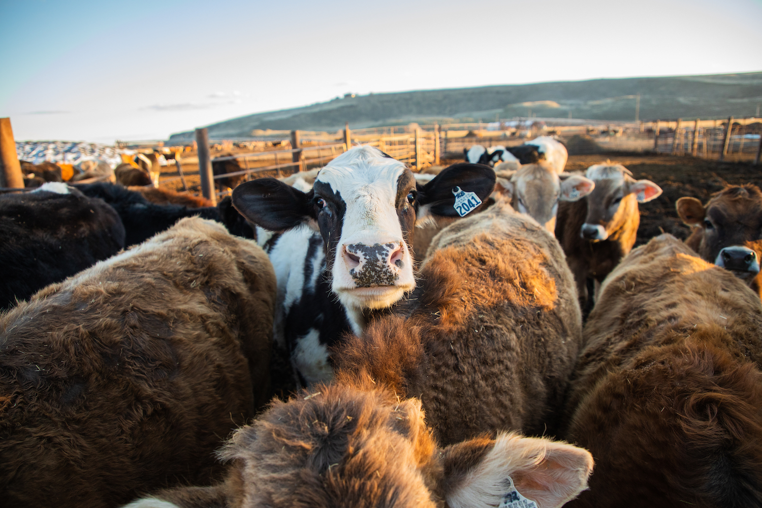
[[[623,165],[593,165],[585,175],[595,182],[587,198],[588,216],[580,231],[587,240],[606,240],[627,221],[640,217],[638,203],[661,194],[661,187],[650,180],[636,181]]]

